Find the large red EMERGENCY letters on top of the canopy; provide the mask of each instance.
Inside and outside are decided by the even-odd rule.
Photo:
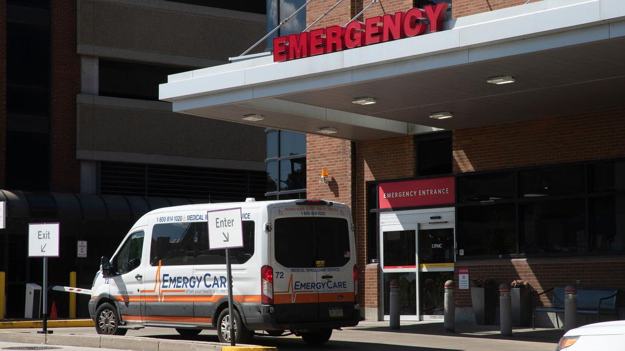
[[[428,26],[430,32],[441,31],[442,17],[445,16],[447,6],[447,2],[439,2],[424,6],[423,9],[414,8],[406,12],[370,17],[364,23],[353,21],[345,27],[331,26],[275,37],[274,62],[414,37],[426,32]],[[420,19],[427,19],[429,24],[421,23]]]

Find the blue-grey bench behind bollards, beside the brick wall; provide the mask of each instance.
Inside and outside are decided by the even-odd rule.
[[[537,296],[546,294],[553,290],[551,299],[551,307],[536,306],[534,300]],[[600,288],[577,288],[577,313],[587,315],[597,315],[601,322],[602,314],[617,315],[616,310],[616,294],[619,289],[600,289]],[[554,312],[556,314],[556,324],[560,328],[560,322],[557,314],[564,314],[564,288],[552,287],[539,294],[532,295],[532,329],[534,329],[534,320],[536,312]]]

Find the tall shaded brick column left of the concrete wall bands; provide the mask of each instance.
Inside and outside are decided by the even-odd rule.
[[[78,192],[80,166],[76,160],[76,94],[80,92],[80,57],[76,54],[76,1],[51,1],[52,191]]]

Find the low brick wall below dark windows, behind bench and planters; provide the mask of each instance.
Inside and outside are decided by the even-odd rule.
[[[621,256],[459,261],[454,272],[455,282],[458,281],[458,267],[469,268],[469,285],[473,279],[487,277],[496,280],[497,284],[527,280],[537,292],[569,284],[625,289],[625,257]],[[550,305],[551,295],[542,295],[541,302]],[[623,299],[617,299],[617,304],[625,307]],[[456,306],[471,307],[471,290],[459,290],[457,283]]]

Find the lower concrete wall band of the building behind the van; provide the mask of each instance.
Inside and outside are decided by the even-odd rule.
[[[79,94],[76,157],[264,169],[261,127],[171,112],[171,104]],[[236,133],[236,134],[235,134]]]

